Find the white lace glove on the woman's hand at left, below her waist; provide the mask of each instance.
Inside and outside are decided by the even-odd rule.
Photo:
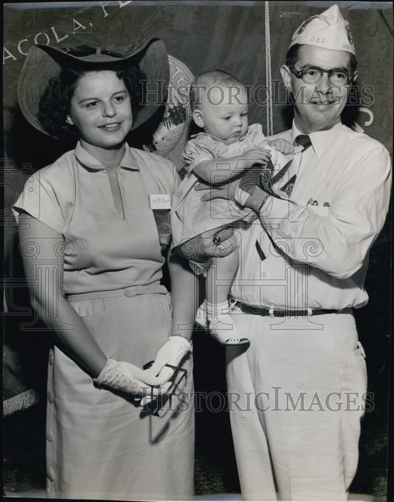
[[[117,391],[140,396],[150,396],[150,386],[161,386],[160,388],[153,387],[154,396],[167,392],[170,382],[162,385],[160,381],[161,379],[156,378],[148,370],[140,369],[129,362],[118,362],[115,359],[108,359],[101,373],[94,379],[99,386],[104,385]]]

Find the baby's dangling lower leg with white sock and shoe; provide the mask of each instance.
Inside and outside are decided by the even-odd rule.
[[[207,313],[213,337],[223,345],[249,343],[234,324],[229,308],[228,295],[239,262],[238,248],[230,255],[218,258],[207,274]]]

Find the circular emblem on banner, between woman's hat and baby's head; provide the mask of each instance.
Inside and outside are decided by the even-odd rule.
[[[184,63],[169,54],[168,63],[170,77],[164,113],[143,149],[166,157],[179,170],[184,164],[182,151],[190,138],[189,88],[194,77]]]

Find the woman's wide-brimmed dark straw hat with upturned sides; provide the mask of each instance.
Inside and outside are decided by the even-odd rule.
[[[161,39],[153,38],[145,41],[142,37],[138,42],[129,46],[127,50],[108,48],[91,48],[86,45],[73,49],[58,49],[46,45],[33,46],[27,57],[19,78],[19,104],[26,119],[36,129],[49,136],[39,119],[38,110],[40,99],[51,78],[57,77],[61,70],[81,64],[87,69],[97,64],[114,63],[123,65],[138,64],[146,76],[146,96],[143,107],[138,111],[131,131],[141,126],[164,101],[168,80],[169,64],[167,51]]]

